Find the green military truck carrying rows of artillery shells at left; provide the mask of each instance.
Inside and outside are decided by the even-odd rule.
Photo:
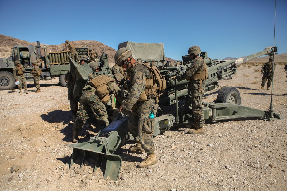
[[[80,56],[88,55],[88,48],[76,48]],[[13,77],[14,62],[20,61],[25,67],[24,73],[27,81],[33,81],[32,62],[37,59],[42,59],[39,68],[42,70],[40,80],[50,80],[53,77],[59,77],[60,85],[67,87],[65,81],[65,74],[70,69],[68,56],[71,56],[71,51],[61,52],[47,52],[46,45],[44,45],[44,56],[41,55],[40,42],[37,41],[37,46],[29,45],[15,45],[11,50],[9,58],[0,59],[0,90],[8,90],[15,88],[15,79]]]

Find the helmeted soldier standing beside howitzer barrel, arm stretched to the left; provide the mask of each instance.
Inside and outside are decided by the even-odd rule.
[[[191,46],[188,49],[188,54],[190,58],[193,59],[193,63],[191,63],[187,71],[173,77],[173,80],[176,79],[177,81],[182,81],[184,79],[189,80],[186,105],[192,107],[194,116],[194,124],[192,125],[192,128],[195,128],[195,130],[188,131],[190,134],[204,134],[205,132],[203,129],[205,120],[202,98],[205,88],[204,80],[208,78],[208,70],[204,60],[199,56],[200,53],[201,50],[198,46]]]

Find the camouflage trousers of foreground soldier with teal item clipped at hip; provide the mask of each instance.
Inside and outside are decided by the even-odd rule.
[[[148,118],[150,112],[156,116],[158,105],[154,99],[137,102],[137,109],[129,115],[129,132],[133,135],[135,141],[141,141],[141,147],[146,153],[151,154],[155,151],[154,118]]]

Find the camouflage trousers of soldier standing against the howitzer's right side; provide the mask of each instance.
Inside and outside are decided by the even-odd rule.
[[[200,81],[190,81],[185,101],[185,104],[189,106],[189,108],[192,108],[194,124],[197,124],[198,127],[203,127],[203,124],[205,123],[202,107],[203,87],[205,87],[204,82],[200,85]]]

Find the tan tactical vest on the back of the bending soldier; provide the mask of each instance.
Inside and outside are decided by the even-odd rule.
[[[110,91],[108,90],[107,83],[115,82],[114,79],[106,75],[97,75],[89,81],[89,84],[96,88],[96,93],[104,104],[110,101]]]

